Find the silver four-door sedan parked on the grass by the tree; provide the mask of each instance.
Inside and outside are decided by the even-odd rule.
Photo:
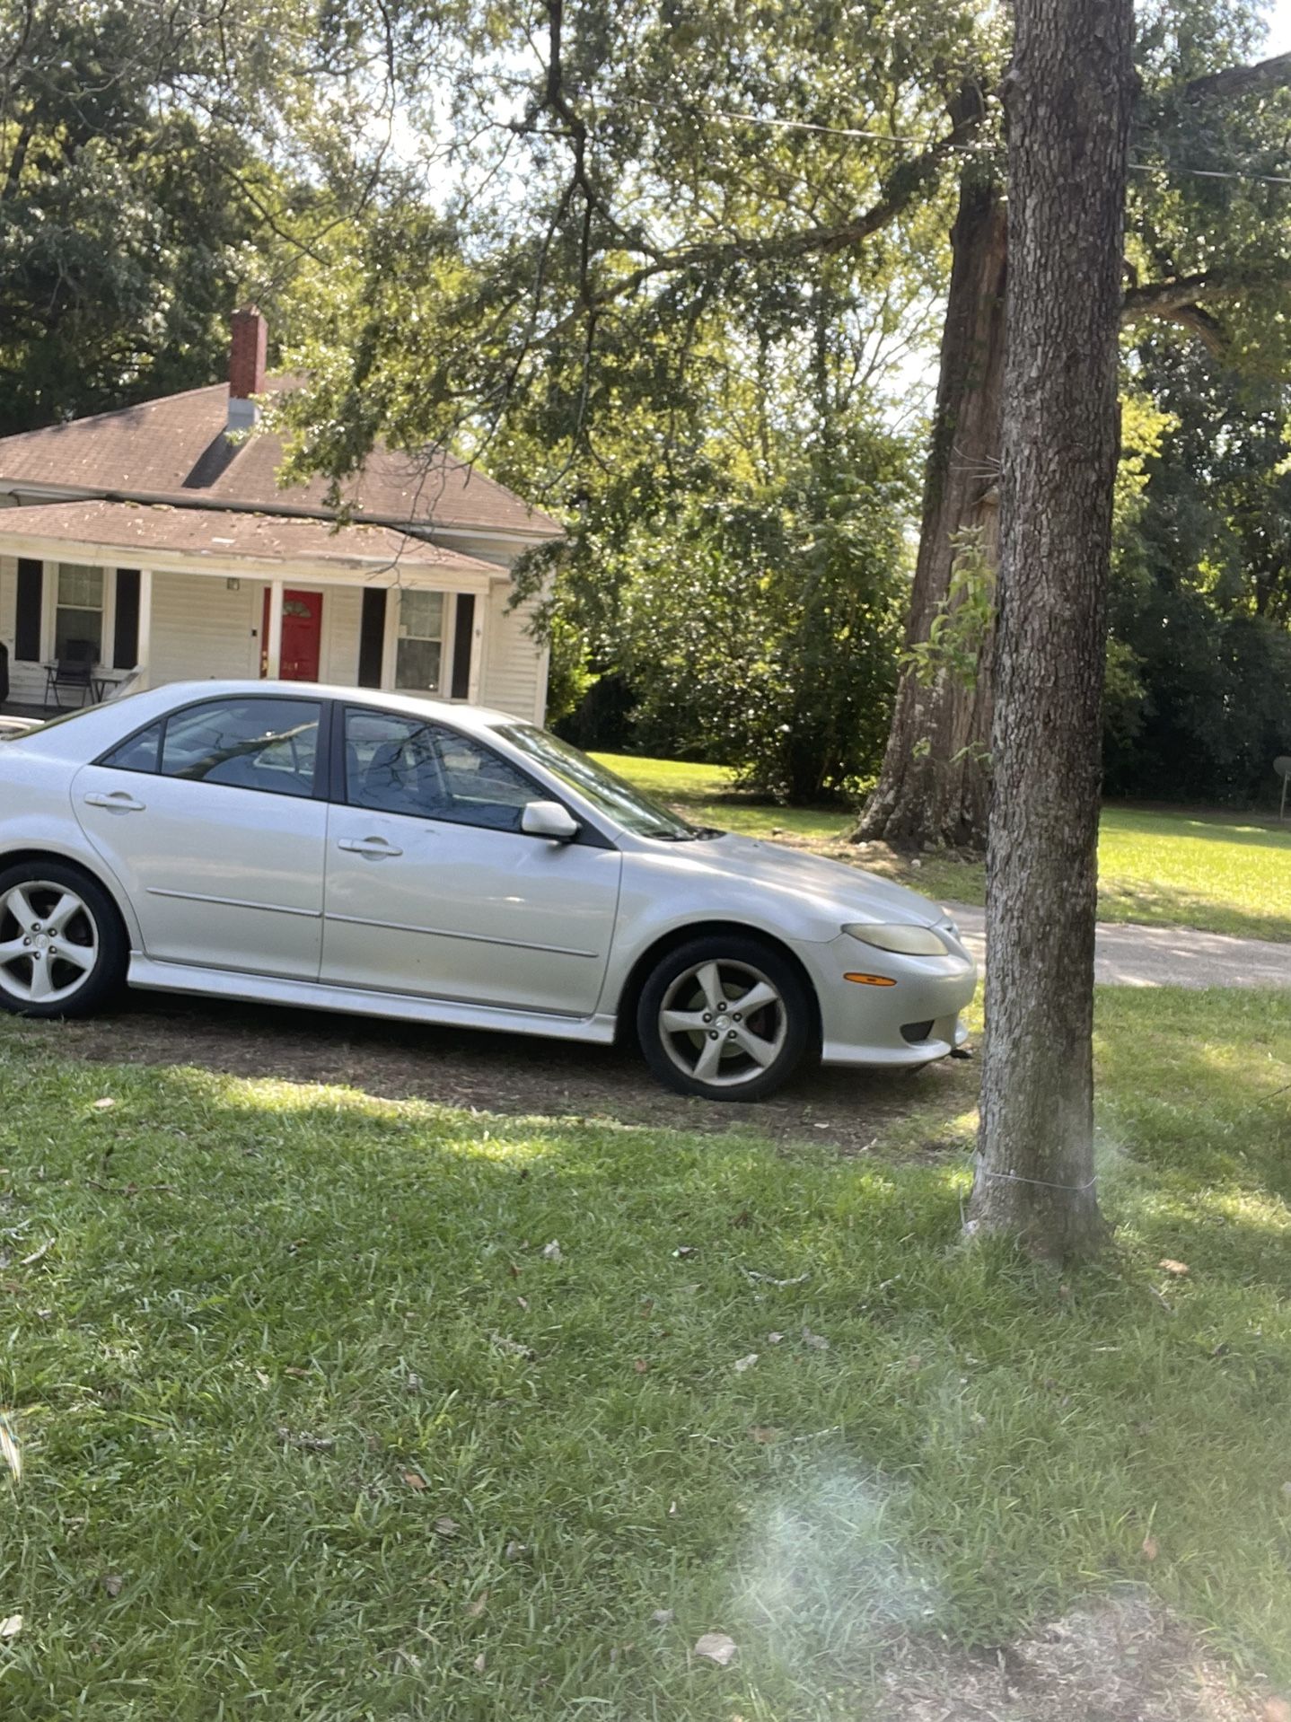
[[[807,1054],[943,1057],[976,968],[912,892],[690,825],[516,718],[196,682],[0,747],[0,1006],[122,983],[635,1033],[671,1088],[752,1100]]]

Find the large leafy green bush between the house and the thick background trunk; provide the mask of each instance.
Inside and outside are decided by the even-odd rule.
[[[714,506],[623,598],[633,735],[702,753],[780,801],[878,763],[900,625],[904,449],[873,430],[809,451],[745,508]],[[769,489],[769,487],[768,487]]]

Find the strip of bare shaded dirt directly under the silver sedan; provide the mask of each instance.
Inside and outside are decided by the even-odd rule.
[[[29,1023],[24,1031],[57,1037],[60,1052],[91,1061],[198,1064],[513,1116],[752,1128],[778,1142],[828,1142],[850,1154],[864,1152],[911,1104],[962,1095],[967,1107],[976,1088],[976,1064],[961,1061],[892,1075],[807,1069],[773,1100],[718,1106],[661,1088],[635,1054],[618,1047],[157,994],[133,994],[119,1011],[88,1023]]]

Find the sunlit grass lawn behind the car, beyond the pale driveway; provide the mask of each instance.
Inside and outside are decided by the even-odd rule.
[[[776,808],[733,792],[721,766],[597,758],[690,818],[749,837],[780,832],[831,849],[854,823],[840,808]],[[866,863],[931,897],[985,901],[979,863],[928,854],[916,870],[886,846],[871,846]],[[1098,914],[1105,921],[1291,940],[1291,828],[1274,820],[1107,806],[1098,871]]]

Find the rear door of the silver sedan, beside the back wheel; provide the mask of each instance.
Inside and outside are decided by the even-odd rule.
[[[322,703],[196,701],[72,780],[81,827],[158,963],[317,980],[327,804]]]

